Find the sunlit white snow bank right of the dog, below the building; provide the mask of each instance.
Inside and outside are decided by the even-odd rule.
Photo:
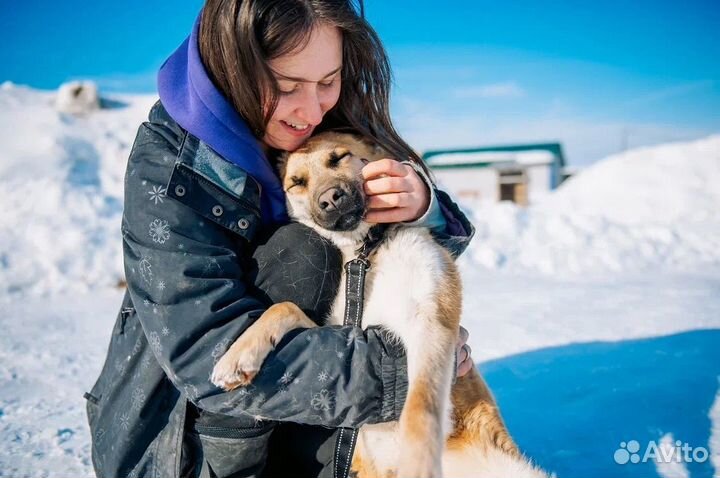
[[[527,209],[473,205],[474,261],[547,274],[720,264],[720,135],[595,163]]]

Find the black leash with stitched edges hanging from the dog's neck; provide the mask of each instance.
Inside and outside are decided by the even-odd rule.
[[[368,258],[386,238],[388,226],[377,224],[370,228],[362,246],[355,252],[357,257],[345,264],[345,325],[360,327],[365,300],[365,276],[370,268]],[[357,443],[356,428],[341,428],[335,442],[334,478],[347,478]]]

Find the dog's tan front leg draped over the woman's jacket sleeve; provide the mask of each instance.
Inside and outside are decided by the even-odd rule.
[[[315,326],[315,322],[292,302],[272,305],[215,364],[210,380],[224,390],[248,385],[287,332]]]

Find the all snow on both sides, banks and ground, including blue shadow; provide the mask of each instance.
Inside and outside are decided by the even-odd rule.
[[[90,476],[83,392],[120,305],[124,163],[156,100],[83,117],[0,85],[0,477]],[[720,473],[720,136],[606,158],[522,209],[463,204],[473,357],[558,476]],[[703,463],[618,464],[621,443]]]

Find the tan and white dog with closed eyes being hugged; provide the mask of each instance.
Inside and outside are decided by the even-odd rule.
[[[334,243],[343,263],[373,226],[363,220],[360,171],[386,157],[362,138],[325,132],[278,161],[290,217]],[[546,477],[518,451],[478,371],[453,384],[462,297],[450,253],[426,228],[393,225],[369,260],[362,327],[382,326],[402,342],[409,387],[399,421],[360,428],[351,470],[360,478]],[[346,279],[343,271],[327,324],[343,324]],[[274,304],[221,357],[212,382],[248,385],[285,333],[315,326],[295,304]]]

